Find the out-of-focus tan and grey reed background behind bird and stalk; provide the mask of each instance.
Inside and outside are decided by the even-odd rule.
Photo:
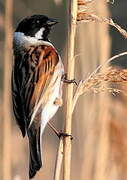
[[[93,0],[91,10],[112,17],[127,29],[127,1]],[[51,41],[65,64],[67,56],[67,1],[0,0],[0,180],[28,180],[28,144],[16,125],[11,106],[10,76],[13,63],[12,33],[19,21],[28,15],[45,14],[59,20]],[[82,23],[77,26],[75,78],[85,79],[110,56],[127,49],[125,40],[104,23]],[[112,65],[127,67],[123,56]],[[66,88],[66,85],[64,86]],[[126,91],[126,86],[122,87]],[[127,179],[127,97],[109,93],[82,96],[73,114],[72,171],[73,180]],[[51,120],[57,129],[64,127],[64,106]],[[49,127],[43,137],[44,167],[35,180],[52,180],[59,139]],[[62,176],[61,176],[62,179]]]

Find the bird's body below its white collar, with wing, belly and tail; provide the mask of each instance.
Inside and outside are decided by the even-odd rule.
[[[23,136],[27,132],[30,149],[29,176],[42,166],[41,140],[47,122],[62,98],[64,68],[53,46],[31,46],[16,56],[12,76],[13,109]]]

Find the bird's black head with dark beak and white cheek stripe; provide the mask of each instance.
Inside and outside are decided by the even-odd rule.
[[[58,23],[55,19],[44,15],[33,15],[24,18],[15,32],[24,33],[26,36],[36,37],[39,40],[48,40],[51,27]]]

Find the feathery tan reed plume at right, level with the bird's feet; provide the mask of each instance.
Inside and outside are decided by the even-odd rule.
[[[124,95],[127,95],[126,92],[118,89],[118,88],[109,88],[104,85],[105,82],[111,83],[111,84],[123,84],[124,86],[127,85],[127,69],[120,69],[120,68],[113,68],[109,67],[105,69],[104,72],[97,72],[90,76],[86,80],[81,80],[79,82],[79,85],[76,89],[75,95],[73,97],[73,110],[76,105],[76,102],[82,94],[85,94],[89,91],[93,91],[95,93],[97,92],[103,92],[107,90],[108,92],[111,92],[112,94],[115,93],[123,93]]]

